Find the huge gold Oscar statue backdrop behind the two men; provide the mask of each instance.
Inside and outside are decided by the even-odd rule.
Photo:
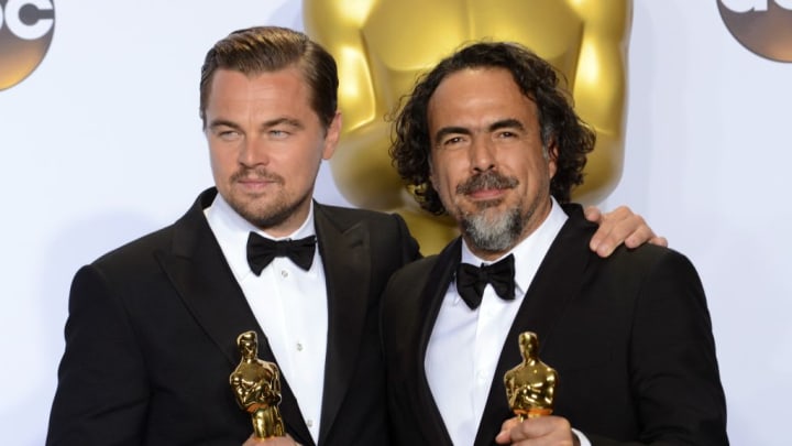
[[[597,132],[575,200],[595,203],[622,175],[631,0],[304,0],[306,32],[339,64],[343,135],[331,168],[355,206],[398,211],[425,254],[457,231],[421,211],[391,165],[389,122],[416,77],[465,42],[520,42],[562,72]]]

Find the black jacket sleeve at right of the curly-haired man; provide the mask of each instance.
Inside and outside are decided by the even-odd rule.
[[[646,275],[629,345],[630,388],[642,424],[640,443],[632,444],[728,445],[710,312],[684,255],[667,250]],[[624,445],[586,436],[593,445]]]

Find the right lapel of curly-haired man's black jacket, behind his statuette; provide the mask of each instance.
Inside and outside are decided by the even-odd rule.
[[[563,317],[570,301],[580,295],[584,271],[591,255],[595,255],[588,250],[588,240],[596,228],[585,220],[579,206],[565,205],[564,211],[570,218],[544,255],[504,342],[474,443],[476,446],[493,444],[503,422],[513,416],[503,377],[521,361],[517,344],[519,334],[537,334],[541,357],[553,327]]]

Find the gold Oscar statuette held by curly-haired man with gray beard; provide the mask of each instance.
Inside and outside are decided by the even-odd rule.
[[[506,372],[506,398],[520,421],[550,415],[553,410],[558,373],[538,358],[539,340],[532,331],[519,335],[522,362]]]

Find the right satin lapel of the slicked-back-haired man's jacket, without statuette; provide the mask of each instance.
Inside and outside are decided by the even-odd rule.
[[[364,222],[342,227],[327,208],[315,205],[315,225],[328,293],[328,345],[319,443],[338,415],[358,362],[371,281],[370,229]],[[377,296],[378,297],[378,296]]]

